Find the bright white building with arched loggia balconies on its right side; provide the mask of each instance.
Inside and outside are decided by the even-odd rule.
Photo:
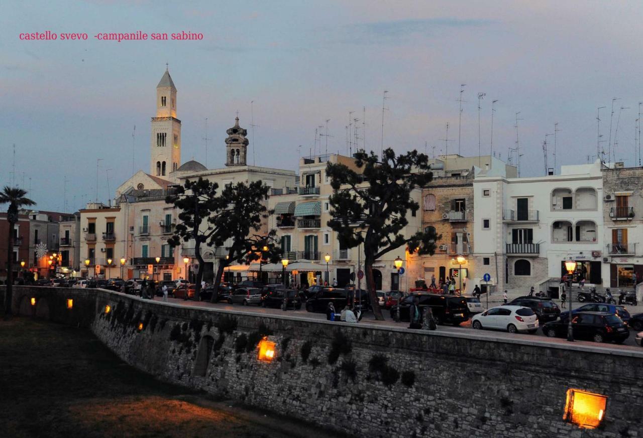
[[[485,273],[496,290],[544,287],[578,263],[587,283],[602,284],[604,245],[601,163],[561,166],[560,175],[474,180],[476,284]],[[542,286],[541,286],[542,284]],[[543,290],[543,292],[545,292]]]

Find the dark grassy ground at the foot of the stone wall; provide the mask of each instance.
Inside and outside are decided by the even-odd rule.
[[[85,329],[0,319],[0,437],[330,437],[162,383]]]

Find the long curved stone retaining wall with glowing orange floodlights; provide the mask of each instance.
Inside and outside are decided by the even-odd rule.
[[[24,304],[30,296],[36,306]],[[13,301],[22,314],[90,328],[161,380],[351,436],[579,437],[562,420],[569,388],[608,396],[602,428],[586,437],[643,436],[638,352],[199,310],[105,290],[17,286]],[[276,342],[272,362],[257,360],[262,336]]]

